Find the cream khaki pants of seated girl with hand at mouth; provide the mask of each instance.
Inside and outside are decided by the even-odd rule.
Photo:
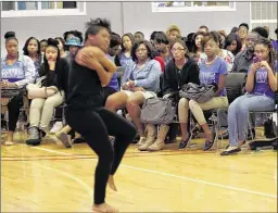
[[[52,118],[54,109],[64,102],[64,91],[59,91],[47,99],[36,98],[31,100],[29,121],[30,127],[47,129]]]

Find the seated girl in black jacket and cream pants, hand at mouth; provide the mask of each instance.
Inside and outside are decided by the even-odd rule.
[[[54,109],[64,102],[66,93],[70,67],[65,59],[60,58],[58,40],[48,39],[43,61],[41,82],[27,86],[28,97],[31,99],[27,145],[40,143],[41,137],[48,131]]]

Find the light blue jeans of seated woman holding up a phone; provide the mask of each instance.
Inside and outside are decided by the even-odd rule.
[[[228,109],[229,142],[238,146],[239,140],[245,140],[248,135],[249,111],[271,111],[274,99],[266,96],[245,93],[237,98]]]

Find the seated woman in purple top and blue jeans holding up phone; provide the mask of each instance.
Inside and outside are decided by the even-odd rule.
[[[255,43],[255,58],[249,67],[245,95],[237,98],[228,110],[229,147],[222,152],[228,155],[241,151],[248,135],[249,111],[271,111],[275,108],[277,73],[270,40],[260,38]]]

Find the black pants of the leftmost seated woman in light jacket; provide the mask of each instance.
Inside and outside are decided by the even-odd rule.
[[[18,121],[20,111],[23,106],[23,97],[21,95],[13,97],[8,103],[9,111],[9,130],[14,131]]]

